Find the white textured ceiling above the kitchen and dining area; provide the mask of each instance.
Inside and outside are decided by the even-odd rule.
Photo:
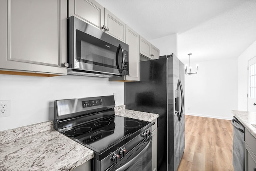
[[[183,62],[237,58],[256,41],[256,0],[96,1],[149,41],[177,33]]]

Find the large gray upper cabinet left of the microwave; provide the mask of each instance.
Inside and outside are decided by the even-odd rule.
[[[0,13],[0,70],[67,74],[66,0],[2,0]]]

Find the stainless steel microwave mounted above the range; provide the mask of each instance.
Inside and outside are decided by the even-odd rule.
[[[68,21],[68,74],[105,78],[129,75],[128,44],[74,16]]]

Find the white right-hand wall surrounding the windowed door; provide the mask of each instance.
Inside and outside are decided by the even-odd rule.
[[[247,111],[247,66],[256,56],[256,41],[238,57],[238,110]]]

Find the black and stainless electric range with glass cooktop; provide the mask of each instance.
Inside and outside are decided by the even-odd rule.
[[[94,151],[92,171],[151,169],[151,156],[134,166],[151,154],[151,123],[114,115],[114,106],[113,96],[54,101],[54,129]]]

